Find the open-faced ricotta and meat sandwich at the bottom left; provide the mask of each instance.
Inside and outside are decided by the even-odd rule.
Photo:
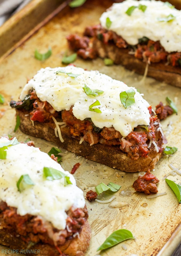
[[[14,253],[83,256],[91,237],[83,192],[54,155],[0,137],[0,170],[0,243]]]

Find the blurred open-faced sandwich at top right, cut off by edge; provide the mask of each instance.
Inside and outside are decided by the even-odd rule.
[[[181,11],[168,2],[114,3],[101,15],[100,24],[67,40],[84,59],[109,58],[139,74],[148,64],[148,76],[181,87]]]

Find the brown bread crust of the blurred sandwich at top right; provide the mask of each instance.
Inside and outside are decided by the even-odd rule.
[[[129,49],[118,48],[113,43],[104,44],[102,41],[94,37],[93,49],[96,49],[100,58],[110,58],[115,64],[121,64],[129,70],[133,70],[143,75],[146,68],[146,62],[135,58],[129,54]],[[148,66],[147,76],[166,82],[176,87],[181,87],[181,67],[173,67],[166,63],[151,63]]]

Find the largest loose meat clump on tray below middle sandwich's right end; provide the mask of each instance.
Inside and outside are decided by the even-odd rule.
[[[138,176],[133,183],[133,188],[136,191],[144,192],[145,194],[156,194],[158,192],[156,184],[159,182],[150,171],[146,172],[144,176]]]

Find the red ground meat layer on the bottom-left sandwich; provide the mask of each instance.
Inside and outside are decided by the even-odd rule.
[[[51,229],[57,237],[57,245],[63,245],[68,239],[71,239],[73,234],[81,231],[82,226],[88,219],[86,206],[84,209],[71,208],[67,212],[66,229],[60,231],[53,227],[50,222],[43,222],[41,217],[30,214],[20,216],[17,214],[16,208],[7,206],[3,201],[0,203],[0,210],[1,228],[6,229],[14,236],[18,235],[27,244],[29,242],[42,242],[54,245],[54,241],[49,237],[47,231]]]

